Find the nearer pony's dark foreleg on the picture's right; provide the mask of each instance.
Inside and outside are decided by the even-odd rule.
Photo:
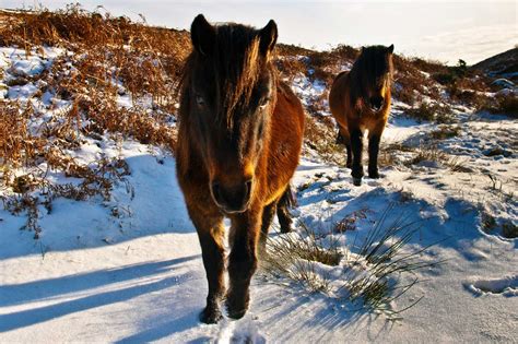
[[[232,216],[231,245],[228,256],[229,286],[226,294],[228,317],[245,316],[250,300],[250,280],[257,270],[256,247],[259,241],[262,207]]]

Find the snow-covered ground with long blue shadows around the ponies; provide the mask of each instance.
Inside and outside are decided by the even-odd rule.
[[[4,78],[37,74],[52,54],[64,51],[25,58],[5,48],[0,68]],[[4,97],[35,102],[47,117],[70,106],[51,94],[31,99],[38,88],[32,82],[3,82]],[[303,99],[323,92],[318,81],[302,79],[294,90]],[[413,151],[396,152],[397,164],[381,165],[381,179],[353,187],[349,169],[305,150],[293,181],[294,215],[322,240],[346,247],[384,214],[382,226],[416,225],[405,249],[432,245],[420,259],[443,262],[414,272],[420,283],[393,301],[397,310],[421,298],[403,319],[351,309],[340,298],[258,273],[244,319],[201,324],[207,282],[174,157],[104,135],[85,138],[69,153],[83,164],[99,157],[127,163],[129,174],[116,181],[109,200],[57,199],[50,213],[42,206],[37,240],[20,230],[25,214],[0,210],[0,342],[518,342],[518,239],[502,232],[518,221],[518,120],[459,115],[458,133],[437,141],[440,159],[405,164],[429,150],[437,126],[407,119],[403,109],[396,103],[384,142]],[[49,178],[73,181],[59,171]],[[349,230],[333,230],[352,217]],[[485,226],[484,218],[494,225]],[[340,275],[337,269],[332,273]]]

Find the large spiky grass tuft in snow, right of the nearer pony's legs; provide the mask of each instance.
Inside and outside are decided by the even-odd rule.
[[[330,297],[342,292],[340,299],[396,319],[398,313],[419,301],[400,310],[393,310],[390,306],[419,283],[413,273],[440,262],[424,262],[420,259],[421,253],[431,246],[408,249],[419,226],[407,222],[403,214],[387,225],[388,215],[392,213],[393,204],[387,207],[363,240],[356,235],[354,241],[345,247],[339,247],[337,240],[323,247],[311,228],[302,224],[299,234],[279,235],[274,239],[268,239],[268,254],[261,266],[274,278],[302,282],[311,292],[320,292]],[[318,262],[343,265],[341,281],[345,282],[337,287],[335,281],[317,268]],[[413,277],[410,283],[404,284],[401,276],[409,273]]]

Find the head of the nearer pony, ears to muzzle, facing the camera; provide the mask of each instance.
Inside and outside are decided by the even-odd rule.
[[[193,50],[184,72],[180,111],[189,118],[212,198],[225,213],[245,211],[255,193],[255,171],[275,104],[271,59],[276,38],[273,21],[256,29],[211,25],[200,14],[191,25]]]

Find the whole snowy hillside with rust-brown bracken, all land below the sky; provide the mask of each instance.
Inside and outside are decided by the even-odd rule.
[[[264,264],[245,318],[205,325],[172,153],[187,33],[76,9],[2,15],[1,343],[518,342],[513,81],[398,57],[382,178],[353,187],[327,90],[355,49],[279,47],[308,116],[296,230],[275,224],[270,246],[310,242],[337,261],[289,260],[286,274]],[[402,245],[382,264],[408,265],[380,277],[362,248],[390,230],[380,251]],[[368,304],[355,281],[391,288]]]

